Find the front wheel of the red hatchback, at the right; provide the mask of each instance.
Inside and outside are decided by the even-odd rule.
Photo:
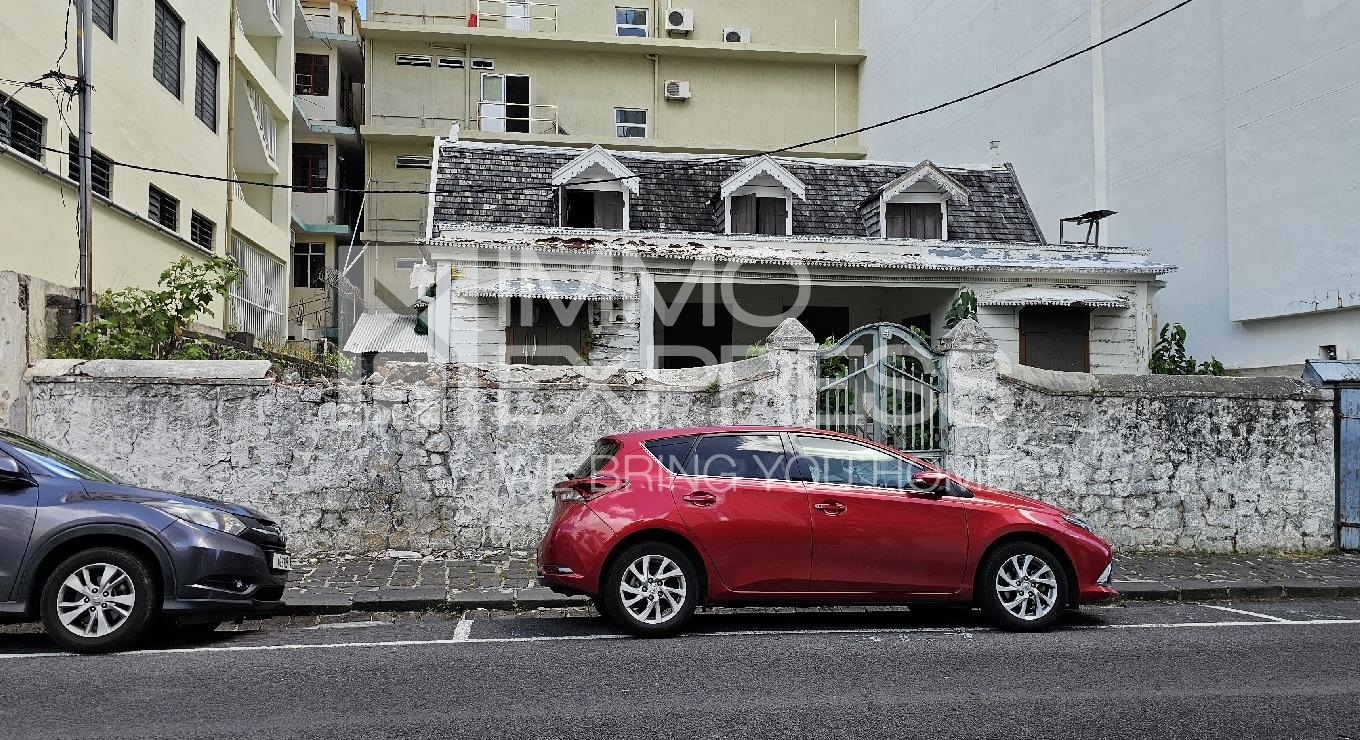
[[[975,599],[993,624],[1013,633],[1051,630],[1068,603],[1068,575],[1049,548],[1035,543],[998,547],[978,570]]]

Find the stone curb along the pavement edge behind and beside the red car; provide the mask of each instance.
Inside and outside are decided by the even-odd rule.
[[[1272,582],[1132,581],[1117,582],[1125,601],[1212,601],[1239,599],[1337,599],[1360,596],[1360,581],[1297,579]],[[290,592],[277,616],[320,616],[347,612],[400,612],[471,609],[530,611],[588,607],[585,596],[562,596],[544,588],[517,590],[460,590],[437,586],[375,589],[355,593]]]

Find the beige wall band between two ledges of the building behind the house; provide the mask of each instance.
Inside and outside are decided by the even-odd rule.
[[[661,56],[654,75],[653,63],[636,53],[468,46],[468,56],[495,60],[495,72],[481,72],[397,67],[403,53],[464,56],[428,42],[370,42],[370,124],[446,131],[461,121],[476,131],[484,73],[529,75],[532,103],[558,106],[566,133],[604,143],[616,140],[615,107],[647,110],[649,139],[753,148],[840,133],[858,121],[857,67]],[[666,80],[690,82],[694,97],[665,101]],[[534,110],[534,117],[548,116]],[[853,147],[854,139],[838,146]]]

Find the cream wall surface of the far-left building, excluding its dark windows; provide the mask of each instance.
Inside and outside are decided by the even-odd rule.
[[[291,37],[260,39],[238,34],[238,50],[246,57],[256,57],[234,61],[234,23],[228,4],[171,0],[171,7],[184,22],[178,97],[151,76],[152,3],[118,3],[112,38],[99,29],[94,30],[92,146],[116,162],[223,177],[228,174],[231,71],[249,64],[256,73],[272,80],[275,91],[282,90],[282,80],[291,79],[292,73]],[[292,10],[291,3],[280,5],[284,27],[291,29]],[[54,39],[64,35],[69,35],[72,44],[75,39],[75,18],[64,30],[65,20],[65,5],[33,3],[24,7],[22,18],[0,24],[0,69],[4,69],[4,76],[26,80],[52,69]],[[242,39],[248,44],[242,45]],[[194,60],[200,44],[219,64],[215,129],[194,116]],[[60,71],[76,73],[73,46]],[[283,99],[288,101],[291,112],[291,98]],[[65,181],[65,150],[78,125],[76,113],[73,106],[69,112],[58,107],[53,97],[41,90],[23,90],[15,102],[45,120],[42,144],[60,151],[44,151],[35,162],[20,159],[14,152],[0,152],[0,182],[5,196],[0,199],[0,243],[4,245],[0,249],[0,269],[73,286],[78,283],[76,193],[75,186]],[[271,173],[271,182],[282,182],[279,178],[288,171],[286,120],[284,114],[277,128],[279,171],[284,174]],[[166,230],[146,219],[150,185],[180,201],[174,229]],[[268,218],[253,212],[246,201],[237,200],[235,226],[283,258],[288,249],[288,192],[261,189],[258,196],[254,207]],[[95,290],[154,286],[160,271],[174,260],[204,254],[203,249],[189,242],[193,212],[215,224],[212,252],[226,254],[227,199],[228,185],[223,182],[114,165],[110,197],[97,197],[92,209]],[[223,313],[218,306],[216,316],[205,322],[220,324]]]

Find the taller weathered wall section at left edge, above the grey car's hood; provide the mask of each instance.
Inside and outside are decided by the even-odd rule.
[[[23,431],[27,393],[23,373],[48,352],[48,339],[69,333],[75,291],[0,271],[0,428]]]

